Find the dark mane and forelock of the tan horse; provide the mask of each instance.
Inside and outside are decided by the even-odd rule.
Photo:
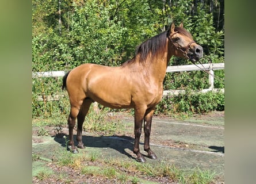
[[[181,34],[184,34],[185,36],[192,38],[191,34],[184,28],[175,27],[174,31],[177,31]],[[150,39],[140,44],[136,49],[136,55],[140,53],[139,62],[142,64],[145,64],[149,53],[151,53],[151,60],[154,59],[154,57],[157,54],[163,55],[165,52],[164,48],[166,46],[166,37],[168,37],[169,34],[170,34],[170,29],[160,34],[157,34],[156,36],[151,37]],[[122,66],[125,66],[128,63],[132,63],[134,60],[135,60],[135,57],[133,57],[133,59],[131,60],[127,60],[127,62],[123,63]]]

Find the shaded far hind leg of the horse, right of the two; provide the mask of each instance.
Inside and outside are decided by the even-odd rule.
[[[81,106],[81,109],[78,113],[77,116],[77,141],[78,141],[78,148],[85,148],[83,146],[83,141],[82,141],[82,129],[83,129],[83,122],[85,121],[85,116],[88,113],[88,110],[90,109],[90,105],[93,101],[91,101],[90,98],[86,98],[83,101],[83,104]]]

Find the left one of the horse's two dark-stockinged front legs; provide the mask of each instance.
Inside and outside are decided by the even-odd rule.
[[[134,121],[134,134],[135,134],[135,140],[134,140],[134,147],[133,147],[133,153],[137,155],[136,160],[138,162],[146,162],[146,159],[144,156],[140,153],[140,135],[142,135],[142,123],[143,123],[143,117],[145,114],[145,110],[143,109],[135,109],[135,121]]]

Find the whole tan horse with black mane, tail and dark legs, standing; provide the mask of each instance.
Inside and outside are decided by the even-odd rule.
[[[82,142],[82,125],[91,103],[114,109],[134,109],[134,146],[135,160],[146,162],[140,152],[139,142],[144,127],[144,151],[147,158],[157,159],[150,148],[151,122],[155,106],[163,95],[163,79],[171,56],[197,62],[203,55],[203,49],[183,28],[171,24],[170,28],[144,41],[136,49],[136,54],[117,67],[98,64],[81,64],[63,76],[62,89],[66,89],[70,100],[68,116],[68,145],[72,153],[85,148]],[[75,147],[73,129],[77,126]],[[144,122],[144,123],[143,123]]]

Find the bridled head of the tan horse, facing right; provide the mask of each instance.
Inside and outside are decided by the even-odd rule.
[[[175,56],[186,57],[192,63],[202,57],[202,47],[196,44],[191,34],[183,28],[182,23],[179,27],[175,27],[174,23],[171,24],[168,37],[171,47],[174,48]]]

